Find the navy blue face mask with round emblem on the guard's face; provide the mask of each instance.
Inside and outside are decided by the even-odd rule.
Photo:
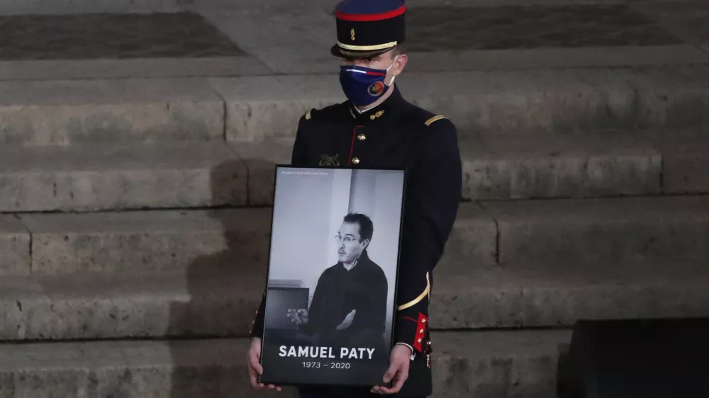
[[[369,105],[378,100],[394,82],[394,77],[396,76],[391,78],[389,86],[384,84],[386,74],[394,62],[396,62],[396,58],[386,69],[342,65],[340,67],[340,84],[342,85],[342,91],[345,91],[347,99],[355,106]]]

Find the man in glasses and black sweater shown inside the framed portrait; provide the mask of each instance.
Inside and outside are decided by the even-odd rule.
[[[384,351],[387,281],[367,255],[373,232],[366,215],[345,216],[335,236],[338,261],[320,275],[310,308],[289,309],[288,317],[313,336],[313,344]]]

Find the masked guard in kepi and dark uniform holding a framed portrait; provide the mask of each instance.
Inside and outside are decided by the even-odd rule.
[[[401,237],[397,313],[391,366],[385,382],[391,389],[314,389],[301,398],[425,397],[432,394],[428,306],[433,269],[440,260],[461,200],[462,169],[453,123],[418,108],[394,85],[408,57],[403,0],[345,0],[337,5],[337,44],[330,52],[342,58],[340,84],[347,101],[309,110],[298,123],[291,164],[302,167],[407,169]],[[265,293],[264,293],[265,297]],[[257,384],[264,326],[261,306],[252,327],[248,367]]]

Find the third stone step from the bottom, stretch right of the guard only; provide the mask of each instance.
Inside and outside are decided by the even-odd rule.
[[[709,196],[482,202],[460,207],[443,263],[592,269],[707,261]]]

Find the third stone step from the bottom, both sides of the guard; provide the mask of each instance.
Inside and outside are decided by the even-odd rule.
[[[0,217],[1,275],[262,269],[272,208]],[[592,269],[706,261],[709,195],[462,203],[442,264]]]

